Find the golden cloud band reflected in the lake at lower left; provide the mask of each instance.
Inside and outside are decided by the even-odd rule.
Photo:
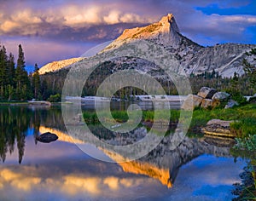
[[[90,161],[86,162],[86,164],[90,163]],[[13,199],[22,199],[24,196],[29,200],[49,199],[53,193],[58,199],[63,197],[65,200],[69,198],[79,200],[80,197],[119,199],[127,197],[128,194],[131,196],[132,193],[139,193],[134,190],[137,187],[143,189],[143,192],[148,191],[148,187],[152,185],[160,187],[157,181],[143,176],[126,175],[125,178],[120,179],[119,173],[117,174],[113,169],[108,169],[106,175],[102,173],[105,164],[102,165],[101,167],[100,164],[94,164],[95,172],[94,169],[79,171],[77,165],[70,166],[75,168],[68,171],[61,166],[55,166],[55,175],[52,175],[47,164],[41,164],[40,167],[23,165],[20,166],[19,173],[16,172],[15,166],[0,168],[0,198],[4,198],[3,192],[5,192],[4,196],[14,195]],[[69,173],[70,171],[72,173]],[[38,194],[38,192],[44,193]],[[16,195],[19,198],[15,198]]]

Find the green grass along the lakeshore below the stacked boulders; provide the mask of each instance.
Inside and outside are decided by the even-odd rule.
[[[102,111],[104,112],[104,111]],[[168,114],[165,110],[156,111],[158,114],[158,120],[163,122],[177,123],[180,117],[179,110],[170,110],[170,119],[167,119]],[[102,113],[102,115],[104,115]],[[154,111],[143,111],[143,122],[154,122]],[[113,118],[117,122],[126,122],[128,120],[127,112],[125,111],[113,111]],[[207,122],[213,118],[221,120],[234,120],[231,123],[231,132],[236,133],[238,137],[244,138],[248,135],[256,135],[256,104],[247,104],[245,106],[236,106],[230,109],[214,109],[205,110],[197,109],[193,112],[192,121],[189,127],[189,133],[200,132],[201,127],[205,126]],[[84,121],[86,123],[99,123],[96,112],[84,112]]]

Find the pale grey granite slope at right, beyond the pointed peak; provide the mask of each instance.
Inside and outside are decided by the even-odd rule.
[[[223,77],[231,77],[234,72],[243,74],[243,59],[251,60],[245,53],[256,48],[252,44],[225,43],[200,49],[191,60],[182,60],[187,74],[202,72],[218,72]]]

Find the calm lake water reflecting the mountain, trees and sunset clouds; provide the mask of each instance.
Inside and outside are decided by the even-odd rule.
[[[0,126],[0,200],[230,200],[246,166],[205,138],[185,137],[170,150],[170,136],[143,158],[103,162],[77,144],[113,162],[119,155],[67,135],[57,106],[1,106]],[[92,129],[109,140],[101,126]],[[59,139],[35,141],[48,131]]]

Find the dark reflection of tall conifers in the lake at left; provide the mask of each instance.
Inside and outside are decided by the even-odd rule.
[[[0,107],[0,158],[4,162],[6,154],[15,151],[15,144],[19,153],[19,164],[22,161],[26,135],[32,131],[34,138],[39,135],[41,124],[47,123],[54,127],[63,125],[61,110],[52,108],[35,109],[27,106]],[[16,143],[15,143],[16,142]],[[35,143],[37,141],[35,140]]]

